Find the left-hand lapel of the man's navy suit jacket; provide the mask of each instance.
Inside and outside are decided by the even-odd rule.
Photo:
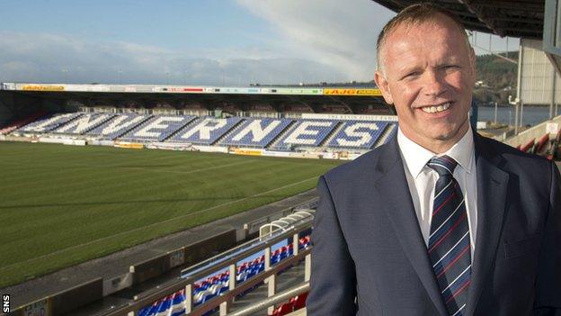
[[[380,204],[384,205],[396,236],[415,272],[419,275],[426,292],[441,315],[446,315],[446,306],[434,277],[423,235],[414,212],[405,171],[396,137],[390,141],[378,159],[375,189]],[[397,158],[397,159],[396,159]]]

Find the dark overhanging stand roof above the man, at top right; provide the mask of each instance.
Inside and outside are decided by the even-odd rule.
[[[398,12],[418,0],[373,0]],[[545,0],[441,0],[433,4],[459,16],[467,30],[542,39]]]

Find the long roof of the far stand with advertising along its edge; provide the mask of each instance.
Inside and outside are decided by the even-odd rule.
[[[324,106],[343,106],[345,113],[360,113],[369,107],[380,114],[394,114],[376,86],[171,86],[171,85],[99,85],[99,84],[37,84],[0,83],[0,101],[7,95],[18,98],[50,100],[51,104],[74,101],[85,106],[110,105],[154,108],[167,104],[184,109],[200,104],[209,110],[226,104],[242,111],[251,111],[252,104],[268,104],[277,112],[287,105],[301,105],[314,113]]]

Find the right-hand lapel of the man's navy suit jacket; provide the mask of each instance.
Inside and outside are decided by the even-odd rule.
[[[474,133],[477,170],[477,238],[472,265],[471,285],[467,295],[467,315],[476,311],[485,279],[494,263],[506,206],[508,173],[498,166],[503,158]]]

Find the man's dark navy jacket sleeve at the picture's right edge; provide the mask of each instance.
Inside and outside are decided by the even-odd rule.
[[[534,315],[561,316],[561,182],[559,169],[551,163],[549,209],[536,280]]]

